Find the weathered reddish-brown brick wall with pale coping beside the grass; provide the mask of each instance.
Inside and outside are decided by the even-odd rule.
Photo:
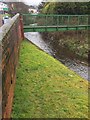
[[[20,43],[23,39],[22,22],[19,14],[2,27],[2,116],[10,118],[16,67]]]

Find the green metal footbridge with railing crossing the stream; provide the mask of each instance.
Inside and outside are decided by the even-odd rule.
[[[88,15],[23,14],[24,31],[88,29]]]

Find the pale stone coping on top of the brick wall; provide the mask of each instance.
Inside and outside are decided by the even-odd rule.
[[[0,42],[4,39],[5,35],[8,33],[12,25],[15,23],[17,18],[19,17],[19,13],[17,13],[13,18],[11,18],[8,23],[4,24],[0,27]]]

